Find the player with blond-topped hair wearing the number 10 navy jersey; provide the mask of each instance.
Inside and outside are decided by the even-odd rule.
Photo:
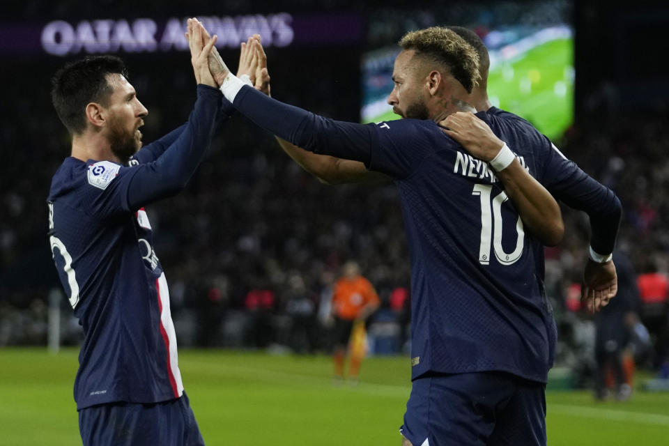
[[[541,240],[524,226],[541,233],[544,224],[542,238],[554,242],[561,222],[554,221],[559,212],[541,215],[551,199],[523,172],[553,174],[546,153],[533,153],[546,141],[498,116],[453,115],[479,77],[474,49],[453,31],[415,31],[400,46],[389,102],[406,119],[376,125],[284,105],[243,86],[224,66],[213,75],[226,98],[266,130],[308,151],[362,162],[397,185],[412,264],[413,388],[404,443],[545,445],[555,321]],[[445,134],[437,123],[449,115]],[[617,226],[620,202],[608,192],[599,198]],[[597,289],[592,307],[611,291]]]

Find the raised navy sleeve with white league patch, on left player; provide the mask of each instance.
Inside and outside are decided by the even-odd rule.
[[[86,203],[100,217],[134,212],[185,187],[213,137],[220,92],[198,86],[197,100],[178,137],[156,160],[123,167],[111,161],[89,161]]]

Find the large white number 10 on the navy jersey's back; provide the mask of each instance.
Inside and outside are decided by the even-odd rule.
[[[479,245],[479,263],[488,265],[490,263],[490,245],[493,245],[495,257],[502,265],[512,265],[521,258],[523,254],[523,244],[525,243],[525,230],[523,229],[523,220],[518,215],[516,221],[516,249],[511,253],[504,252],[502,247],[502,203],[509,197],[505,192],[500,192],[492,200],[491,212],[491,185],[477,184],[474,186],[472,195],[478,195],[481,201],[481,245]],[[494,220],[494,224],[493,224]],[[494,232],[493,232],[494,229]]]

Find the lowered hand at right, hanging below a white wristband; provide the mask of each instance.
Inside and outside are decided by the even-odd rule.
[[[588,259],[583,272],[583,288],[580,300],[591,313],[598,312],[615,297],[618,291],[618,275],[613,261],[597,263]]]

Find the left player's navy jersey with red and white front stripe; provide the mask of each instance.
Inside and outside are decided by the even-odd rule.
[[[210,144],[221,95],[198,86],[185,125],[141,148],[130,167],[68,157],[49,193],[49,240],[84,328],[75,380],[82,409],[180,397],[169,291],[144,205],[178,192]]]

